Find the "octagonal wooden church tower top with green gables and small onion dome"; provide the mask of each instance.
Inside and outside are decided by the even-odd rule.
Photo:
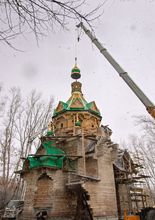
[[[82,83],[77,81],[81,74],[76,64],[71,77],[75,80],[71,84],[71,96],[67,102],[59,102],[52,117],[55,134],[74,134],[77,128],[97,129],[102,119],[95,102],[88,103],[82,94]]]

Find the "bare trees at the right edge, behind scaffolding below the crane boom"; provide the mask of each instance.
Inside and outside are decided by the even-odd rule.
[[[150,178],[145,182],[151,197],[155,201],[155,121],[151,117],[136,117],[136,124],[141,127],[141,136],[130,136],[126,147],[134,153],[134,158],[141,164],[142,173]]]

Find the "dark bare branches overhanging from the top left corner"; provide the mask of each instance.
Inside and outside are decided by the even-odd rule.
[[[0,40],[12,46],[11,40],[27,31],[33,32],[38,40],[55,26],[66,28],[70,20],[84,20],[90,24],[99,16],[101,5],[88,11],[89,5],[87,0],[2,0]]]

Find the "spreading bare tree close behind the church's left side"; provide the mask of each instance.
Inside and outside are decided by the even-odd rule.
[[[47,128],[52,113],[52,104],[53,98],[50,99],[48,104],[45,104],[41,100],[41,95],[34,90],[20,108],[15,122],[15,138],[20,143],[21,157],[26,157],[30,153],[36,133],[42,134],[44,129]],[[19,164],[17,165],[19,166]]]

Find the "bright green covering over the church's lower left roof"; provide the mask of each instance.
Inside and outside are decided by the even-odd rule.
[[[45,149],[45,155],[28,156],[30,169],[39,167],[62,169],[65,152],[55,147],[53,141],[43,142],[42,146]]]

